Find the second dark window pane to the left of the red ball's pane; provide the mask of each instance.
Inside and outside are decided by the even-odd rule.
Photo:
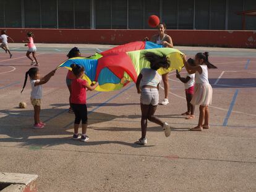
[[[127,28],[127,0],[112,0],[112,28]]]

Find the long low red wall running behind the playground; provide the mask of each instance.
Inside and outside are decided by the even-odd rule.
[[[25,40],[28,31],[35,35],[35,43],[92,43],[124,44],[141,41],[152,36],[156,30],[82,30],[82,29],[38,29],[7,28],[15,42]],[[255,31],[220,30],[167,30],[173,43],[187,46],[224,46],[234,48],[256,48]]]

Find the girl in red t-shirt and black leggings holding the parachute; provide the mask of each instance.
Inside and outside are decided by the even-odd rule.
[[[92,91],[98,86],[98,82],[92,85],[88,85],[87,81],[83,80],[84,68],[80,65],[70,65],[72,72],[75,75],[75,79],[71,83],[71,107],[75,113],[74,122],[74,135],[73,139],[78,140],[79,136],[79,124],[82,120],[82,136],[81,141],[88,141],[89,137],[86,135],[87,130],[87,105],[86,105],[86,89]]]

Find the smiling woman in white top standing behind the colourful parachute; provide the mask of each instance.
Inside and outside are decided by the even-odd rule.
[[[164,48],[173,48],[173,40],[171,39],[171,36],[167,35],[165,33],[166,25],[165,23],[159,23],[158,25],[158,34],[153,35],[150,38],[150,41],[157,44],[163,44]],[[144,38],[144,41],[148,41],[148,37]],[[169,103],[168,100],[168,91],[169,91],[169,81],[168,81],[168,74],[163,74],[163,83],[164,83],[164,99],[161,102],[162,105],[167,105]]]

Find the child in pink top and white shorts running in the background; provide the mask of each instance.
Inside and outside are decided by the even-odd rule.
[[[38,61],[37,61],[37,59],[36,59],[36,56],[35,56],[35,54],[36,54],[36,46],[35,46],[35,44],[34,44],[34,40],[33,40],[33,38],[35,38],[35,36],[34,36],[34,34],[30,31],[30,32],[28,32],[27,33],[27,41],[22,41],[23,43],[27,43],[27,44],[25,44],[25,46],[28,46],[28,51],[27,51],[27,53],[26,53],[26,56],[28,57],[28,59],[30,59],[31,60],[31,64],[30,65],[33,65],[33,64],[35,64],[35,66],[39,66],[39,63],[38,63]],[[35,59],[35,60],[33,60],[31,57],[30,57],[30,54],[32,53],[32,56],[33,56],[33,58]]]

